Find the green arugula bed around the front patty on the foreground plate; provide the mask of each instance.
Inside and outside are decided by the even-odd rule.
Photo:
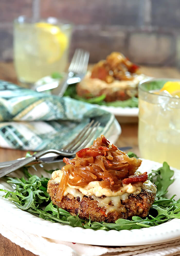
[[[133,156],[133,153],[129,152],[129,156]],[[52,173],[52,171],[47,172]],[[157,186],[156,199],[149,215],[146,218],[132,217],[132,220],[118,219],[115,223],[91,222],[91,220],[80,219],[78,216],[71,216],[67,211],[52,204],[47,193],[49,178],[31,175],[26,167],[23,167],[23,173],[24,176],[20,179],[6,176],[4,179],[11,184],[12,191],[5,189],[0,189],[0,191],[4,191],[6,193],[4,198],[12,201],[18,208],[51,222],[94,230],[119,231],[156,226],[171,219],[180,218],[180,199],[174,200],[175,195],[170,199],[165,196],[169,185],[174,182],[172,178],[174,171],[166,162],[149,174],[149,179]]]

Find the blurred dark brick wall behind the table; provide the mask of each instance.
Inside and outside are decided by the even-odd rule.
[[[32,16],[32,0],[0,1],[0,60],[13,59],[13,20]],[[179,66],[180,0],[41,0],[41,17],[74,24],[75,48],[90,51],[95,63],[121,51],[145,65]]]

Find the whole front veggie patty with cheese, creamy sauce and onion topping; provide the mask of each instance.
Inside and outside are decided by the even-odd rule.
[[[129,158],[103,135],[64,162],[48,182],[53,204],[71,215],[98,222],[148,215],[156,186],[148,180],[147,172],[138,172],[141,160]]]

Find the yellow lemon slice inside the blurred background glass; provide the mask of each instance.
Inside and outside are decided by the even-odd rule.
[[[52,64],[59,60],[68,47],[68,38],[60,28],[46,22],[35,23],[39,54],[44,61]]]

